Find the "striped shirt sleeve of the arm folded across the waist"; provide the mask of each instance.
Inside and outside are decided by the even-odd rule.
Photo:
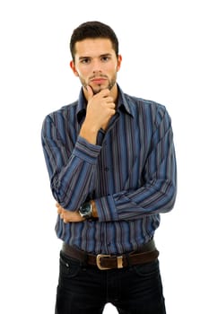
[[[169,212],[177,193],[177,166],[170,116],[156,117],[150,152],[144,165],[144,185],[95,200],[101,222],[135,220]]]

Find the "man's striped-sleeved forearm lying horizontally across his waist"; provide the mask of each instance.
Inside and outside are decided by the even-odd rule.
[[[94,201],[100,222],[109,222],[135,220],[147,215],[169,212],[175,198],[174,182],[155,182],[149,187],[103,196]]]

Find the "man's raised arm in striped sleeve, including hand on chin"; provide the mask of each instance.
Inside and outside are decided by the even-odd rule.
[[[51,190],[57,203],[67,210],[75,211],[91,195],[101,149],[95,144],[96,136],[100,127],[108,124],[114,108],[109,90],[93,95],[88,88],[87,113],[80,135],[74,131],[74,124],[72,134],[68,134],[61,112],[44,120],[41,138]]]

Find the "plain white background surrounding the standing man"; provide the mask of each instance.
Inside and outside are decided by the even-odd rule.
[[[68,64],[75,27],[118,34],[122,89],[170,112],[178,159],[175,208],[156,242],[168,314],[207,313],[207,1],[3,0],[0,3],[0,312],[52,314],[61,246],[40,144],[45,116],[77,99]],[[108,305],[105,313],[115,313]]]

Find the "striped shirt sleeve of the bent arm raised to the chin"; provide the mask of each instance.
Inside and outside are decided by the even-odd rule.
[[[42,126],[41,141],[48,168],[50,187],[57,202],[75,211],[91,194],[101,147],[78,136],[75,144],[65,144],[62,129],[48,115]]]

